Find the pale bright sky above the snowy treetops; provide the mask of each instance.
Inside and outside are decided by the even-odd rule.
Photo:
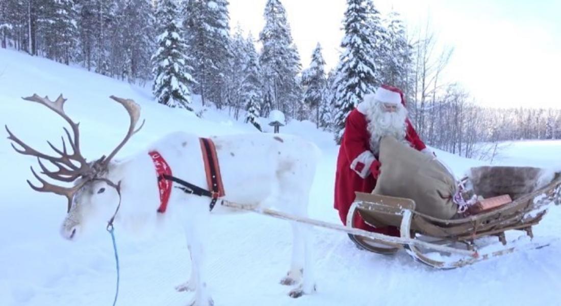
[[[229,0],[231,28],[257,38],[266,0]],[[337,65],[346,0],[281,0],[302,60],[316,43],[328,67]],[[401,13],[410,31],[427,19],[440,47],[454,48],[445,77],[476,101],[496,107],[561,108],[561,1],[374,0],[383,14]]]

